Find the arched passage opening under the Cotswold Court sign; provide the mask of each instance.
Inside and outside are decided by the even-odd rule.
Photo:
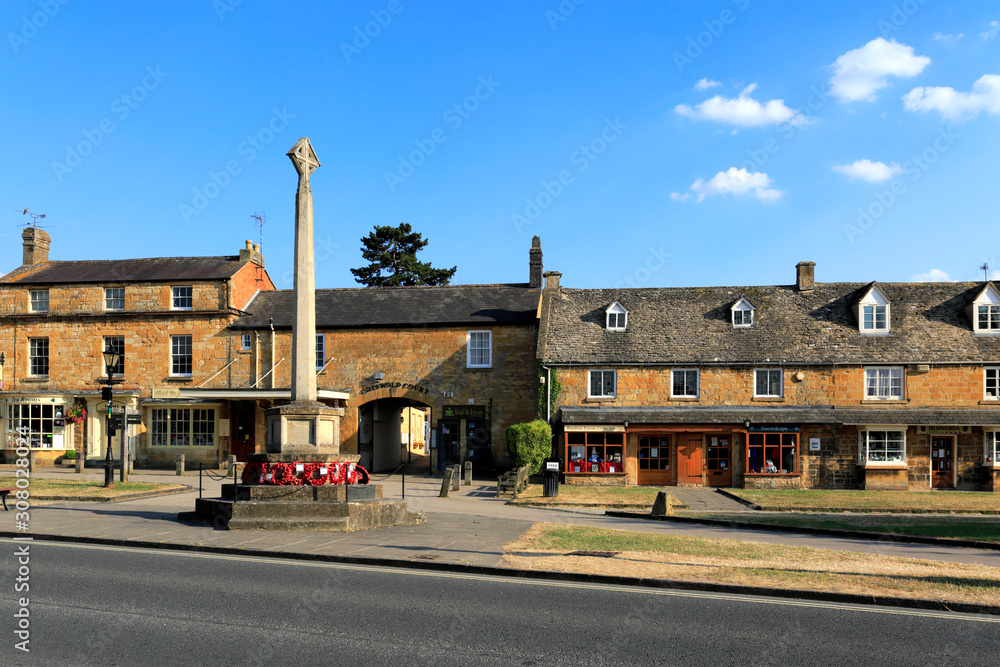
[[[409,398],[379,398],[358,407],[358,454],[371,472],[391,472],[429,453],[431,407]]]

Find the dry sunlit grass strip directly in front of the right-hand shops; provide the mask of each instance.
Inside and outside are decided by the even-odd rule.
[[[770,512],[900,512],[1000,514],[1000,494],[973,491],[727,489]]]

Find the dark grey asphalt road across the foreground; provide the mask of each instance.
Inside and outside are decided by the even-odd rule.
[[[23,544],[0,540],[2,665],[968,666],[1000,647],[1000,617],[43,542],[15,593]]]

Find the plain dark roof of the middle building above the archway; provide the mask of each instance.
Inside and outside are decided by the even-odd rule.
[[[358,287],[316,290],[316,327],[430,326],[533,323],[541,290],[525,285]],[[291,328],[291,290],[261,292],[234,329]]]

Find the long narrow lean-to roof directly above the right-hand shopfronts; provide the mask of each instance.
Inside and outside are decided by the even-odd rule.
[[[790,406],[642,406],[560,408],[564,424],[1000,424],[1000,410]]]

